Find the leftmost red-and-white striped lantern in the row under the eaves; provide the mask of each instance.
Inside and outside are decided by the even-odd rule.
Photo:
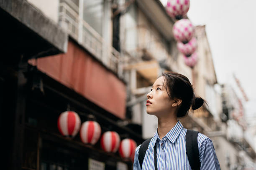
[[[58,129],[61,135],[74,137],[81,125],[79,115],[73,111],[62,112],[58,119]]]

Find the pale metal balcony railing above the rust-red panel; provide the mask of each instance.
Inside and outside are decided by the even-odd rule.
[[[60,25],[103,65],[120,76],[120,53],[105,42],[101,35],[82,19],[82,16],[79,16],[78,7],[75,4],[71,7],[67,2],[69,0],[60,2],[59,5]]]

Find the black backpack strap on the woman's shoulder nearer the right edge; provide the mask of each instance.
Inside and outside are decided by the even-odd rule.
[[[200,170],[200,158],[197,143],[197,134],[195,130],[187,130],[186,133],[186,151],[189,165],[192,170]]]

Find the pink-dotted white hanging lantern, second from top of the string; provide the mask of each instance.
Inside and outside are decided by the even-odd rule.
[[[182,19],[178,20],[173,26],[173,35],[175,40],[181,41],[184,44],[189,42],[194,35],[195,27],[190,20]]]

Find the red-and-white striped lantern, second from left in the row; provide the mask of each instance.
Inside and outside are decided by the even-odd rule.
[[[83,143],[95,145],[100,139],[101,128],[95,121],[86,121],[82,123],[80,129],[80,138]]]

